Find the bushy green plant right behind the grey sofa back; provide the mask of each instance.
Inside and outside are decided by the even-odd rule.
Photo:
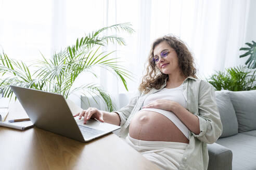
[[[246,66],[227,68],[225,72],[217,71],[207,81],[216,90],[247,91],[256,89],[256,70]]]

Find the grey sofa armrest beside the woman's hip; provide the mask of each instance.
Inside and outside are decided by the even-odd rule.
[[[208,144],[208,170],[232,170],[233,153],[230,149],[219,144]]]

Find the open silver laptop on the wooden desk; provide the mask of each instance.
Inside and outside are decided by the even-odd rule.
[[[120,126],[73,117],[82,109],[60,94],[10,86],[32,123],[40,129],[82,142],[91,141],[120,129]]]

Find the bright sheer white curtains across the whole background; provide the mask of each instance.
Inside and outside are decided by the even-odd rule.
[[[37,59],[40,52],[49,58],[84,33],[130,22],[136,32],[119,34],[127,46],[103,50],[117,50],[112,57],[121,58],[134,73],[134,80],[127,79],[127,84],[129,91],[135,91],[152,41],[170,33],[183,39],[193,52],[199,77],[244,64],[239,48],[256,40],[255,8],[252,0],[0,0],[0,46],[10,58]],[[126,91],[119,79],[98,72],[99,79],[87,81],[101,84],[113,96]],[[75,86],[83,81],[81,76]]]

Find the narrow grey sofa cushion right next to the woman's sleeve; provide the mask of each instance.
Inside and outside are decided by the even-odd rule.
[[[232,136],[238,133],[238,123],[235,109],[226,91],[215,91],[216,104],[219,108],[223,131],[220,137]]]

